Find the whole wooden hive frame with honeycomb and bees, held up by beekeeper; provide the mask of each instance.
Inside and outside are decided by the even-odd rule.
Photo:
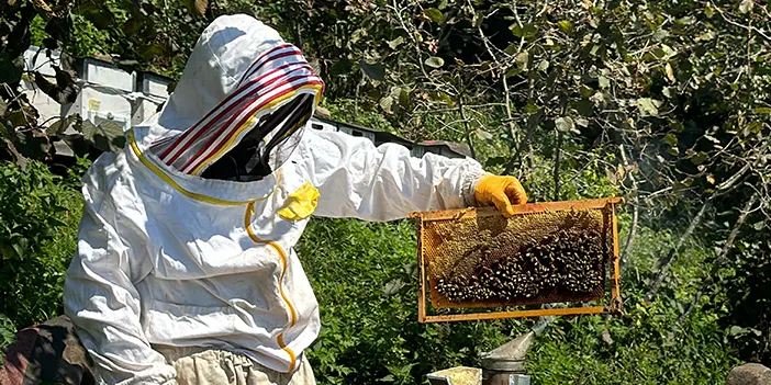
[[[621,310],[616,206],[621,199],[414,213],[421,321]],[[610,280],[608,280],[610,273]],[[434,309],[572,307],[428,315]],[[604,303],[584,306],[586,303]]]

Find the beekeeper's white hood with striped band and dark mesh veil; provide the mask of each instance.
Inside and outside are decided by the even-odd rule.
[[[248,15],[222,16],[201,34],[142,141],[187,174],[258,179],[291,155],[323,87],[273,29]]]

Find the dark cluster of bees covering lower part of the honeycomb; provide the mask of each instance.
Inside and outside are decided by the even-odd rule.
[[[439,294],[455,303],[511,302],[551,293],[589,294],[603,284],[604,247],[596,230],[573,227],[519,250],[493,241],[479,251],[506,257],[480,265],[470,276],[439,279]]]

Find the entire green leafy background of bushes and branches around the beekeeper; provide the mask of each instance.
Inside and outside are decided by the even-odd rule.
[[[53,3],[0,4],[0,297],[14,298],[0,342],[58,312],[74,249],[87,161],[60,171],[49,139],[71,124],[82,155],[121,145],[114,127],[37,122],[22,76],[63,101],[74,83],[66,68],[48,83],[23,73],[19,55],[34,42],[179,76],[213,18],[246,12],[305,52],[334,118],[463,143],[535,201],[626,199],[626,314],[555,320],[530,353],[537,384],[715,384],[771,364],[771,3]],[[299,253],[321,304],[321,383],[422,382],[533,326],[417,324],[414,242],[406,222],[312,220]]]

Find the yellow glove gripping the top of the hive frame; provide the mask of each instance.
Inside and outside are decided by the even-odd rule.
[[[512,205],[527,203],[527,194],[514,177],[487,175],[477,183],[473,196],[480,206],[495,205],[505,216],[514,215]]]

